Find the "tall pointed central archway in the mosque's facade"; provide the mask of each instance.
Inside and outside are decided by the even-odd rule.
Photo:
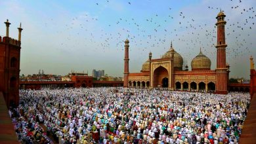
[[[164,67],[160,66],[154,71],[153,87],[168,87],[168,71]]]

